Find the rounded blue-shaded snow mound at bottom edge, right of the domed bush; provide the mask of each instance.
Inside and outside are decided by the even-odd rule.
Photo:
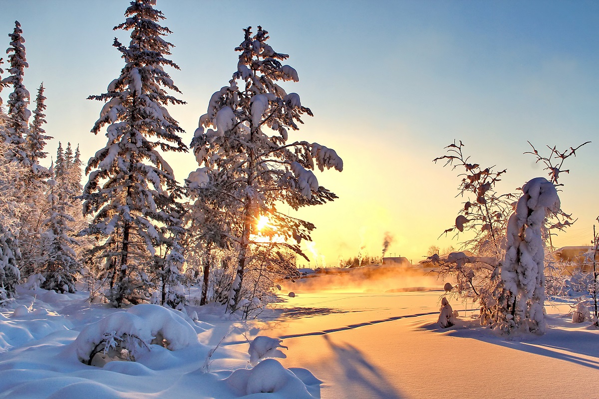
[[[268,392],[275,394],[273,398],[313,398],[305,383],[274,359],[263,360],[251,370],[235,370],[225,381],[241,396]]]

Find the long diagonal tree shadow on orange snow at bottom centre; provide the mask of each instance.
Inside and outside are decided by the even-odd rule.
[[[345,380],[341,384],[345,386],[348,394],[351,393],[352,397],[402,398],[385,375],[370,364],[358,348],[349,343],[334,343],[326,335],[323,338],[337,357],[335,363],[341,367],[345,375]],[[359,391],[363,391],[364,395]]]

